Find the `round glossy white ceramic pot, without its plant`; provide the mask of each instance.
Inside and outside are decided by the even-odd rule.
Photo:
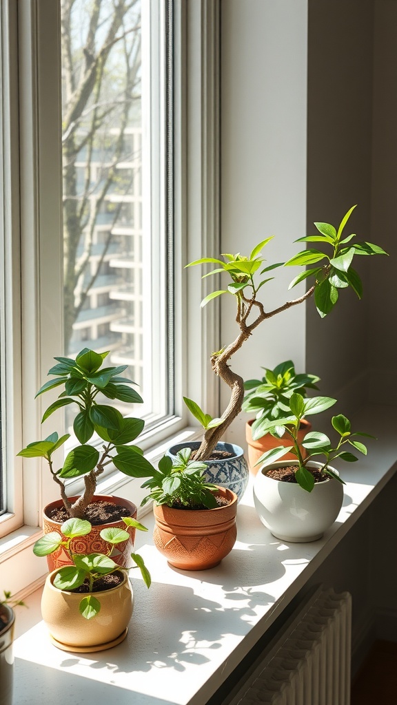
[[[288,465],[296,463],[281,460],[261,467],[254,482],[256,511],[276,539],[291,543],[316,541],[339,514],[343,485],[330,477],[316,482],[312,492],[307,492],[298,484],[281,482],[266,474],[272,468]],[[321,467],[321,463],[312,460],[308,467]],[[338,472],[333,467],[331,470]]]

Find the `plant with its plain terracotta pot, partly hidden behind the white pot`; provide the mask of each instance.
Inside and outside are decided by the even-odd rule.
[[[265,370],[262,379],[247,379],[244,381],[244,389],[247,395],[242,403],[242,410],[247,413],[256,414],[255,419],[247,421],[245,427],[245,438],[248,443],[249,468],[253,474],[258,472],[257,460],[270,448],[274,448],[275,441],[268,431],[263,431],[263,424],[268,420],[275,420],[285,416],[288,411],[288,401],[294,392],[306,397],[307,389],[318,389],[316,382],[319,377],[314,374],[297,374],[292,360],[281,362],[274,369]],[[312,428],[307,419],[301,419],[300,429],[298,429],[298,441],[302,443],[305,434]],[[278,445],[288,446],[288,434],[284,434],[278,439]],[[305,450],[301,446],[301,453]],[[293,460],[292,453],[285,453],[284,460]]]

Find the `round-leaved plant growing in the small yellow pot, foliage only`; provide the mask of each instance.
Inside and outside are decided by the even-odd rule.
[[[123,521],[127,526],[133,526],[143,531],[148,530],[136,520],[131,519],[131,517],[124,517]],[[92,619],[100,611],[100,601],[94,596],[95,589],[101,591],[116,587],[119,584],[117,578],[109,581],[106,580],[107,576],[114,575],[114,573],[128,572],[131,568],[139,568],[146,587],[150,587],[151,582],[150,573],[142,556],[139,556],[138,553],[131,553],[131,558],[136,563],[131,568],[122,568],[110,558],[113,547],[129,539],[128,532],[123,529],[114,527],[102,529],[100,536],[109,544],[107,553],[73,553],[71,541],[78,537],[86,536],[90,531],[90,522],[83,519],[68,519],[61,526],[63,537],[58,532],[51,532],[50,534],[45,534],[33,546],[35,556],[49,556],[50,553],[57,551],[59,546],[64,547],[69,558],[73,561],[73,565],[65,565],[64,568],[59,568],[52,584],[59,590],[85,593],[79,605],[79,611],[85,619]]]

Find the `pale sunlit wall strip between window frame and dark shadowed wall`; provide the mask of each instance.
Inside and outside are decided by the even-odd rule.
[[[283,262],[306,234],[307,2],[227,0],[222,4],[221,240],[242,252],[275,235],[266,258]],[[286,249],[288,243],[288,250]],[[263,287],[267,309],[294,298],[292,270]],[[299,295],[299,288],[294,292]],[[303,288],[301,288],[303,293]],[[222,297],[221,343],[237,334],[234,299]],[[227,300],[227,299],[230,299]],[[282,331],[280,319],[282,318]],[[293,357],[304,367],[304,306],[269,319],[233,358],[245,379]],[[227,403],[227,389],[221,392]],[[230,440],[244,439],[244,415]]]

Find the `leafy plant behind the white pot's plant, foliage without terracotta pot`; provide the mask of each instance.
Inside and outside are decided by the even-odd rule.
[[[318,389],[316,382],[320,379],[315,374],[296,374],[292,360],[281,362],[274,369],[262,369],[266,373],[262,379],[244,382],[248,394],[242,403],[242,411],[256,414],[251,427],[256,441],[268,432],[262,431],[263,424],[285,416],[293,393],[306,397],[306,389]]]

